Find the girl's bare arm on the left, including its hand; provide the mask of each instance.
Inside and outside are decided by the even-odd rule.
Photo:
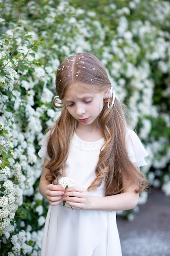
[[[49,204],[54,206],[62,202],[61,199],[63,198],[65,189],[62,186],[53,185],[50,181],[46,180],[45,177],[49,173],[49,170],[45,166],[48,162],[49,160],[45,158],[40,177],[39,191],[44,198],[49,200]]]

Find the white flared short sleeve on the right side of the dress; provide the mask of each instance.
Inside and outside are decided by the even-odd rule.
[[[133,130],[128,130],[126,143],[130,160],[133,163],[136,162],[138,167],[146,165],[144,157],[146,157],[148,153]]]

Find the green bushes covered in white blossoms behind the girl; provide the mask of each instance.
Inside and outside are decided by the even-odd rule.
[[[71,54],[106,66],[149,153],[142,171],[170,195],[169,13],[162,0],[0,0],[0,255],[40,255],[48,203],[38,150],[60,115],[55,73]]]

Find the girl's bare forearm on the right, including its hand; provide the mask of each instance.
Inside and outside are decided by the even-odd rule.
[[[139,194],[136,185],[131,185],[123,193],[104,197],[93,197],[86,194],[85,189],[70,187],[66,189],[63,200],[79,209],[119,211],[132,209],[137,205]],[[66,197],[69,196],[69,197]]]

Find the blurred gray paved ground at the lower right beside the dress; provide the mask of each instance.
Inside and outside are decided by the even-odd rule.
[[[170,256],[170,196],[152,190],[135,220],[117,216],[122,256]]]

